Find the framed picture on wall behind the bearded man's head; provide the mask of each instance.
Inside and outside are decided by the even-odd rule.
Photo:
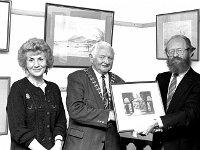
[[[166,60],[166,42],[173,35],[187,36],[194,50],[191,60],[199,60],[199,10],[187,10],[156,15],[156,59]]]

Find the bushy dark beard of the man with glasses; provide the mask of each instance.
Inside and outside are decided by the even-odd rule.
[[[173,57],[173,58],[168,58],[167,60],[167,66],[169,70],[172,73],[183,73],[185,72],[191,65],[191,60],[189,55],[185,59],[180,58],[180,57]]]

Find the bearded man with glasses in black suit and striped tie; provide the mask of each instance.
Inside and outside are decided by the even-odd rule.
[[[168,72],[158,81],[165,116],[155,121],[153,150],[200,150],[200,74],[191,68],[195,48],[190,39],[175,35],[166,43]]]

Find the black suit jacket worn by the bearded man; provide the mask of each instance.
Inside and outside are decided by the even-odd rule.
[[[166,108],[170,72],[157,75]],[[154,133],[153,150],[200,150],[200,75],[192,68],[176,88],[165,116],[163,132]]]

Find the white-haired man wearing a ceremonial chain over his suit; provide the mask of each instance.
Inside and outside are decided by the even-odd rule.
[[[64,150],[121,150],[112,106],[111,83],[124,82],[111,73],[114,50],[107,42],[90,51],[91,66],[68,76],[69,128]]]

